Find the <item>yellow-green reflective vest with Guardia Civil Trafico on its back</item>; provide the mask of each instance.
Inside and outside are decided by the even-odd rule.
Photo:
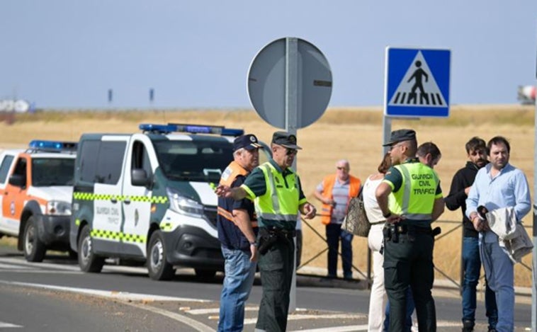
[[[431,222],[436,188],[440,183],[436,172],[420,162],[394,166],[401,172],[402,184],[393,200],[388,201],[390,211],[406,219]]]

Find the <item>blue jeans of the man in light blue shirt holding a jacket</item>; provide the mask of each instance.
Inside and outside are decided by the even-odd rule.
[[[497,236],[496,236],[497,238]],[[481,261],[490,289],[496,295],[498,332],[514,331],[514,265],[498,241],[480,244]]]

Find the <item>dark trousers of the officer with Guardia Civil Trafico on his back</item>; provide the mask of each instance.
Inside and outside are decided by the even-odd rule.
[[[420,332],[436,331],[436,309],[431,289],[434,282],[434,238],[431,234],[399,234],[384,241],[384,285],[390,301],[390,332],[405,330],[407,288],[412,288]]]

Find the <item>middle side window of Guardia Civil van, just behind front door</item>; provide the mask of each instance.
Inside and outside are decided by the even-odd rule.
[[[115,185],[121,176],[127,142],[101,142],[98,151],[96,181]]]

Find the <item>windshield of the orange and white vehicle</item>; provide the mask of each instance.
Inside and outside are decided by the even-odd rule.
[[[74,158],[33,158],[32,185],[73,185]]]

